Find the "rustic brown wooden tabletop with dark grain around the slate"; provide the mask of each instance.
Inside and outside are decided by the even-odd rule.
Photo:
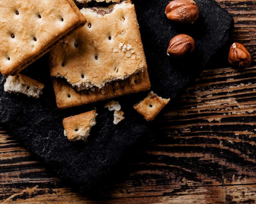
[[[234,16],[249,68],[202,72],[94,194],[76,193],[0,129],[0,202],[256,203],[256,1],[217,2]]]

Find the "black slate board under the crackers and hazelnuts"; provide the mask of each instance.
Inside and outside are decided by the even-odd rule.
[[[144,44],[152,89],[158,95],[175,100],[209,62],[229,42],[234,29],[232,16],[213,0],[195,0],[200,9],[193,24],[176,24],[168,20],[164,9],[168,0],[134,0]],[[171,37],[186,33],[195,39],[196,50],[190,57],[177,60],[166,55]],[[148,92],[119,97],[125,119],[113,125],[113,112],[100,101],[59,110],[56,107],[49,77],[47,55],[22,73],[45,84],[40,99],[4,92],[5,77],[0,75],[0,125],[26,145],[47,167],[81,189],[92,188],[118,165],[128,147],[146,134],[148,123],[132,107]],[[112,100],[112,99],[111,99]],[[96,107],[97,125],[92,127],[86,143],[70,142],[63,135],[62,120]],[[156,118],[157,120],[157,118]]]

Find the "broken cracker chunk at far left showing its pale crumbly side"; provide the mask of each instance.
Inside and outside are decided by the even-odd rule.
[[[29,97],[39,98],[43,94],[43,83],[22,74],[8,76],[4,83],[4,91],[22,93]]]

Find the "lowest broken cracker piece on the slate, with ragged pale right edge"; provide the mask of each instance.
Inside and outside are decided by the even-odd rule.
[[[96,110],[91,110],[89,112],[84,112],[75,116],[64,118],[64,135],[72,141],[86,141],[90,135],[92,126],[96,124],[96,116]]]

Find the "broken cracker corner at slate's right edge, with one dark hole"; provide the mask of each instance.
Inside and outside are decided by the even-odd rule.
[[[152,121],[169,101],[170,99],[163,99],[151,91],[145,99],[139,101],[139,103],[136,103],[133,107],[139,114],[144,116],[147,121]]]

